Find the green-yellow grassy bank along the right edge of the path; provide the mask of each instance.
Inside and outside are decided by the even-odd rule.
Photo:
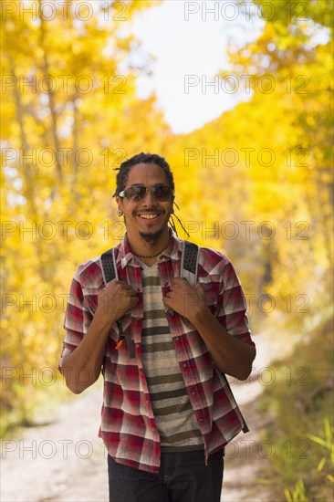
[[[329,319],[287,360],[271,365],[279,378],[261,398],[260,410],[273,417],[263,439],[277,448],[261,482],[277,500],[333,500],[332,337]]]

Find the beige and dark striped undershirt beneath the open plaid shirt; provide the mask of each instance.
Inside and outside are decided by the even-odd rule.
[[[162,302],[158,264],[141,262],[143,293],[142,365],[162,451],[204,449],[204,439],[184,387]]]

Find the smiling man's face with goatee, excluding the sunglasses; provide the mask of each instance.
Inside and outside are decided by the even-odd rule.
[[[162,168],[154,163],[139,163],[130,167],[125,187],[141,184],[151,187],[155,184],[169,184]],[[141,236],[146,242],[155,243],[168,234],[168,220],[172,213],[172,198],[166,202],[154,199],[151,192],[141,201],[130,201],[127,197],[116,198],[120,210],[124,214],[129,237]]]

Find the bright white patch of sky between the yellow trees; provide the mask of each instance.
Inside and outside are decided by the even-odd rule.
[[[202,127],[240,100],[249,99],[236,78],[229,80],[231,88],[219,72],[229,69],[227,42],[243,46],[263,26],[260,16],[247,19],[245,10],[231,0],[164,0],[137,13],[133,33],[141,39],[143,51],[154,57],[150,78],[139,78],[139,95],[145,98],[155,90],[173,132]]]

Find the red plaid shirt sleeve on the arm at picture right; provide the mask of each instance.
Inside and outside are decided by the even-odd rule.
[[[244,341],[256,350],[256,345],[251,338],[249,321],[246,314],[247,304],[244,291],[241,287],[239,277],[236,275],[235,268],[227,258],[226,260],[222,286],[217,302],[216,318],[230,335]]]

